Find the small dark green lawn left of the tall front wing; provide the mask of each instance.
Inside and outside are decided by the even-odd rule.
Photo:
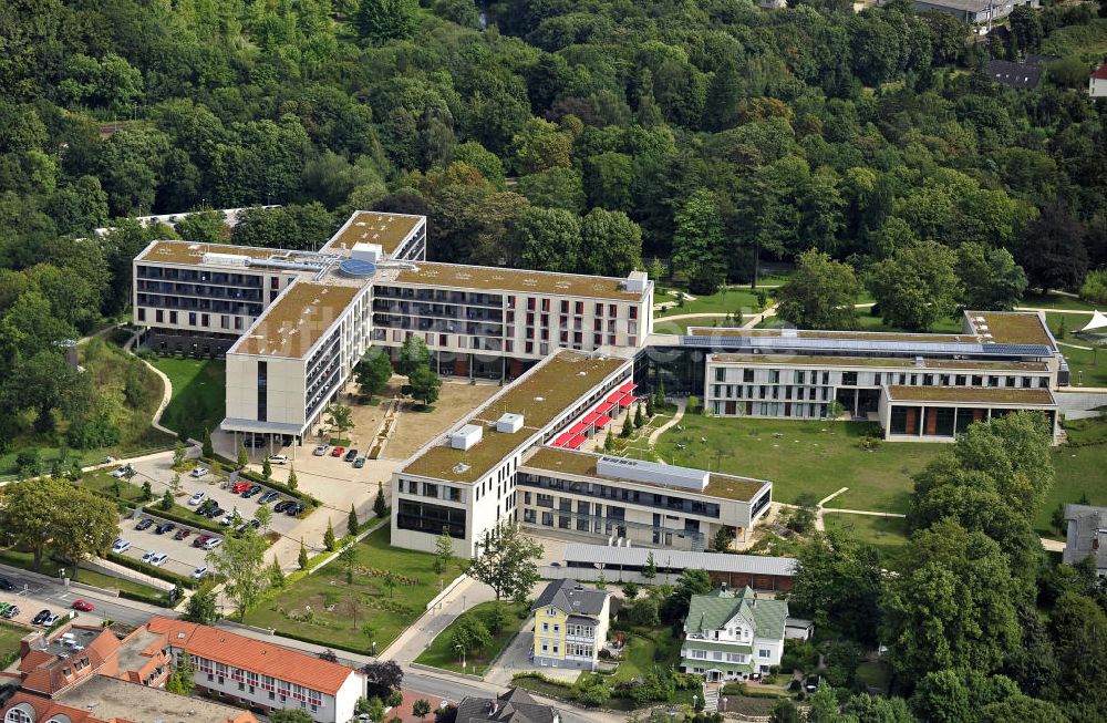
[[[219,426],[226,411],[226,364],[209,359],[151,359],[169,378],[173,395],[162,414],[162,424],[203,440],[205,430]]]

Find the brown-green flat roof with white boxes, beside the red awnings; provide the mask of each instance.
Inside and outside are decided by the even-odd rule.
[[[480,442],[468,450],[454,450],[448,444],[425,447],[401,472],[448,482],[474,483],[528,437],[628,364],[625,359],[598,358],[577,351],[559,351],[547,357],[465,420],[465,424],[478,424],[484,428]],[[496,420],[507,413],[523,415],[521,430],[511,434],[495,430]]]

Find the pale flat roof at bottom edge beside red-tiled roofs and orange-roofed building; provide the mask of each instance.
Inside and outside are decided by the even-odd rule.
[[[248,711],[194,695],[176,695],[165,690],[111,678],[89,675],[69,690],[53,696],[54,702],[87,712],[102,721],[196,720],[205,723],[254,720]]]

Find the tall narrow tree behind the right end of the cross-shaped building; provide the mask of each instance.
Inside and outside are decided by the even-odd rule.
[[[693,293],[714,293],[726,273],[723,216],[714,195],[701,188],[677,211],[673,234],[672,271],[687,279]]]

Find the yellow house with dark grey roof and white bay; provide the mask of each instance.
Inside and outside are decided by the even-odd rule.
[[[609,593],[576,580],[555,580],[530,609],[535,613],[535,664],[596,670],[608,639]]]

